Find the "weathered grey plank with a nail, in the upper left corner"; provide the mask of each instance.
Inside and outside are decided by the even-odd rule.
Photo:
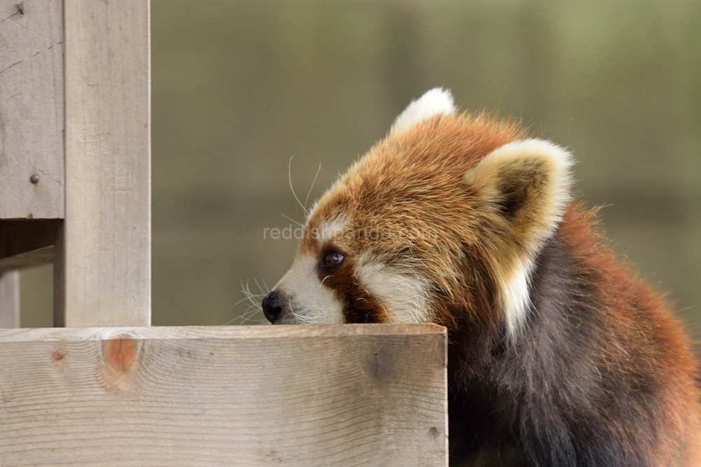
[[[62,24],[61,0],[0,0],[0,218],[64,215]]]

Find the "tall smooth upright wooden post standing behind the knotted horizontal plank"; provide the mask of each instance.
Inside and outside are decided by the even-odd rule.
[[[64,1],[66,326],[151,322],[149,1]]]

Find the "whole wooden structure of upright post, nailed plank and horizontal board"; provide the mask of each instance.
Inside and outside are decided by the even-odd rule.
[[[149,327],[150,127],[148,1],[0,0],[0,465],[447,465],[444,328]]]

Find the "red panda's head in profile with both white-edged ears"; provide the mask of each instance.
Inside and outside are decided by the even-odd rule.
[[[409,104],[315,204],[297,258],[266,295],[273,323],[503,323],[570,201],[569,153],[512,123]]]

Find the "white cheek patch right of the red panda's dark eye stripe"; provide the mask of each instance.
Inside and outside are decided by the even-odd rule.
[[[390,323],[428,323],[433,320],[426,281],[411,272],[398,272],[365,254],[355,275],[365,290],[388,308]]]

